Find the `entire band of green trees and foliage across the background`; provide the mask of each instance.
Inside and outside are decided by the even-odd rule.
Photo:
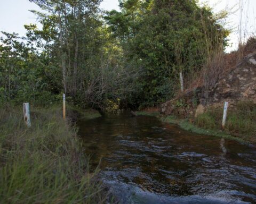
[[[83,106],[154,106],[173,96],[179,72],[193,78],[226,45],[219,19],[196,1],[125,0],[106,13],[101,0],[30,1],[45,11],[33,11],[43,28],[4,33],[2,101],[44,105],[65,92]]]

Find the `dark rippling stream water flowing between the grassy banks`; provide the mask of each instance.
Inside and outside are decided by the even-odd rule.
[[[127,113],[78,125],[120,203],[256,203],[254,146]]]

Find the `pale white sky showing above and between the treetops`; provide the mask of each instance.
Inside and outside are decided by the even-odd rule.
[[[239,30],[246,31],[243,32],[243,38],[256,33],[256,0],[199,0],[199,2],[201,4],[206,2],[216,13],[224,9],[230,12],[225,25],[232,30],[227,52],[237,48]],[[239,2],[243,2],[242,15],[238,11],[239,5],[242,5]],[[100,7],[105,10],[119,10],[118,0],[103,0]],[[39,10],[39,8],[28,0],[0,0],[0,31],[16,32],[20,36],[25,36],[26,30],[23,25],[36,23],[36,16],[29,10]],[[242,24],[239,20],[240,16],[242,16]],[[241,25],[242,29],[240,29]]]

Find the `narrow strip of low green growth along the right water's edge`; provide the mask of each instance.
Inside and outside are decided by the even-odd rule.
[[[196,126],[194,123],[191,123],[188,119],[180,119],[176,116],[169,115],[169,116],[163,116],[159,113],[159,111],[138,111],[136,112],[138,115],[147,115],[147,116],[154,116],[159,118],[159,120],[165,122],[165,123],[172,123],[179,125],[179,127],[183,130],[197,133],[197,134],[204,134],[204,135],[211,135],[219,138],[225,138],[230,140],[235,140],[242,143],[249,143],[249,141],[246,141],[242,138],[237,138],[232,136],[231,134],[225,132],[225,131],[217,131],[217,130],[210,130],[210,129],[203,129]]]

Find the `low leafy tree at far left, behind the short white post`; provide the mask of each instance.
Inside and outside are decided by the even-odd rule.
[[[58,85],[52,80],[53,69],[49,72],[50,66],[42,63],[34,49],[20,42],[17,34],[3,34],[5,37],[0,39],[0,100],[37,104],[56,100],[51,95],[53,89],[58,94]]]

